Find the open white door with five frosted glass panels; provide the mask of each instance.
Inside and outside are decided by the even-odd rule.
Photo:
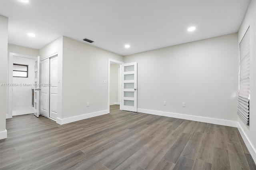
[[[137,63],[122,64],[122,110],[137,112]]]

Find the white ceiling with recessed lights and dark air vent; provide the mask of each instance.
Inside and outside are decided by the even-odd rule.
[[[250,0],[0,0],[9,43],[40,49],[60,36],[129,55],[238,32]],[[187,32],[189,26],[196,31]],[[36,34],[35,38],[27,36]],[[87,43],[87,42],[84,42]],[[90,43],[88,43],[90,44]],[[125,44],[130,44],[126,49]]]

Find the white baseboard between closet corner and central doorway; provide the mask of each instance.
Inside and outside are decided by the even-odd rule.
[[[105,114],[108,114],[108,110],[98,111],[98,112],[94,112],[94,113],[86,113],[84,115],[68,117],[68,118],[64,118],[64,119],[60,119],[60,118],[57,117],[56,123],[58,123],[60,125],[64,125],[64,124],[67,124],[67,123],[81,121],[81,120],[84,120],[84,119],[88,119],[88,118],[96,117],[96,116],[101,116],[101,115],[105,115]]]

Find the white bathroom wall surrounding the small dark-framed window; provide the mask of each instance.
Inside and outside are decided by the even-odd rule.
[[[28,77],[13,77],[14,84],[22,84],[22,86],[13,87],[12,107],[32,105],[32,87],[23,86],[23,84],[34,83],[34,59],[13,57],[13,63],[28,65]]]

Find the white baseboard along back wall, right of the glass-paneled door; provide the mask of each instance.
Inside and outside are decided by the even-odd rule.
[[[212,124],[216,124],[216,125],[224,125],[224,126],[229,126],[229,127],[237,127],[237,122],[236,121],[228,121],[228,120],[224,120],[224,119],[215,119],[215,118],[209,118],[209,117],[184,115],[184,114],[179,114],[179,113],[153,111],[153,110],[147,110],[147,109],[138,109],[138,112],[148,113],[148,114],[151,114],[151,115],[173,117],[173,118],[178,118],[178,119],[186,119],[186,120],[190,120],[190,121],[212,123]]]

